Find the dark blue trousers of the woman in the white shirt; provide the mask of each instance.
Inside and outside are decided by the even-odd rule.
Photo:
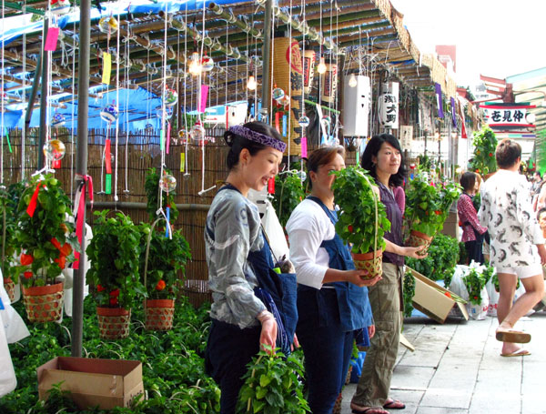
[[[355,333],[340,328],[334,289],[298,290],[298,315],[309,407],[313,414],[331,414],[347,377]]]

